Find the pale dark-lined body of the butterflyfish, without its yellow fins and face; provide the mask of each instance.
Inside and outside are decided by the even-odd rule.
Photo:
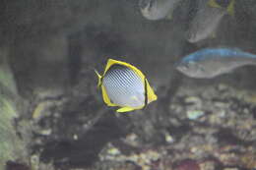
[[[145,105],[144,81],[122,65],[113,65],[103,77],[102,85],[110,101],[122,107],[140,108]]]

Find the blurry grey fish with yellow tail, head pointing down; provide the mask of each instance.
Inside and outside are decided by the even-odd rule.
[[[224,16],[234,16],[234,2],[235,0],[230,0],[224,8],[216,0],[199,0],[198,12],[191,20],[187,31],[187,40],[194,43],[211,36],[215,37]]]

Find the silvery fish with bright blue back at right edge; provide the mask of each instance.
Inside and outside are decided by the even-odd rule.
[[[247,65],[256,65],[255,54],[238,48],[205,48],[185,56],[175,68],[191,78],[211,79]]]

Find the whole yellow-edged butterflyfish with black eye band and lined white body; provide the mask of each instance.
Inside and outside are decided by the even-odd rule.
[[[158,98],[143,73],[128,63],[108,59],[103,75],[96,75],[104,102],[121,107],[117,112],[142,109]]]

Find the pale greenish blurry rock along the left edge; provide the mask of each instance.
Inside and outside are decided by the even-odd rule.
[[[0,169],[4,169],[7,161],[7,169],[13,167],[23,167],[26,165],[13,162],[16,159],[23,159],[27,153],[25,142],[17,135],[14,127],[14,119],[20,114],[21,99],[17,92],[16,82],[13,73],[7,63],[7,54],[0,48]]]

